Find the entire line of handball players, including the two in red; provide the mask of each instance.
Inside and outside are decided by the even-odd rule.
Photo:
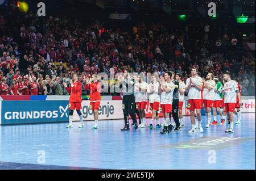
[[[188,133],[195,133],[196,129],[203,132],[201,126],[201,109],[205,108],[207,117],[207,125],[209,128],[211,124],[217,124],[217,111],[221,116],[221,124],[223,125],[228,116],[229,128],[226,132],[233,132],[233,113],[238,116],[237,124],[241,122],[241,89],[238,82],[230,79],[230,74],[223,75],[224,86],[217,77],[212,73],[208,73],[206,78],[201,78],[200,73],[196,68],[191,70],[191,77],[183,82],[181,74],[173,72],[166,72],[162,77],[152,74],[151,82],[147,84],[144,82],[143,77],[131,77],[130,69],[125,70],[124,77],[119,75],[118,82],[119,88],[122,90],[127,89],[123,95],[123,114],[125,118],[125,127],[122,131],[129,130],[129,115],[133,119],[135,129],[138,127],[146,127],[146,103],[149,96],[150,108],[152,110],[151,124],[148,125],[150,129],[153,128],[153,123],[156,121],[156,127],[163,127],[162,134],[168,134],[179,131],[184,127],[182,117],[182,106],[185,91],[188,92],[188,108],[190,110],[192,129]],[[81,115],[81,82],[78,81],[77,75],[73,75],[71,86],[67,87],[64,83],[71,97],[69,99],[69,125],[67,128],[72,128],[73,111],[76,109],[80,116],[81,124],[79,127],[84,127]],[[86,90],[90,90],[90,108],[94,114],[93,129],[98,128],[98,108],[100,106],[100,92],[101,83],[97,79],[97,75],[92,75],[92,78],[86,78]],[[130,88],[132,91],[129,91]],[[148,94],[148,96],[147,96]],[[214,120],[211,123],[213,108]],[[222,109],[224,112],[222,113]],[[237,109],[237,111],[235,111]],[[158,111],[163,113],[164,123],[160,125]],[[139,117],[139,125],[135,117],[137,113]],[[170,123],[171,115],[174,117],[174,123]],[[141,121],[142,119],[142,121]]]

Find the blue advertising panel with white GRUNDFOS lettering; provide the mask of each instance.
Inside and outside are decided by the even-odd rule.
[[[2,101],[2,125],[68,122],[68,100]]]

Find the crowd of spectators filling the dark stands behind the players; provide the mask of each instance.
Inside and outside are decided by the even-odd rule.
[[[253,32],[249,40],[255,42]],[[243,50],[242,41],[242,32],[227,24],[176,29],[142,22],[124,32],[98,20],[81,24],[31,12],[0,14],[0,83],[16,95],[68,95],[63,82],[75,73],[82,82],[92,74],[109,75],[110,68],[114,73],[169,70],[189,77],[196,66],[203,77],[229,71],[240,78],[242,95],[255,95],[255,52]]]

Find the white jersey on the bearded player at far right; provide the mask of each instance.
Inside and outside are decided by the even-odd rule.
[[[224,103],[236,103],[237,93],[239,92],[238,85],[236,81],[226,82],[222,90],[224,94]]]

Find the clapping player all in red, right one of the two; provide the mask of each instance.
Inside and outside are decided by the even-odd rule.
[[[92,75],[92,78],[86,78],[85,90],[90,90],[90,106],[89,109],[93,111],[94,126],[92,129],[98,128],[98,110],[101,103],[101,83],[98,82],[96,74]]]

